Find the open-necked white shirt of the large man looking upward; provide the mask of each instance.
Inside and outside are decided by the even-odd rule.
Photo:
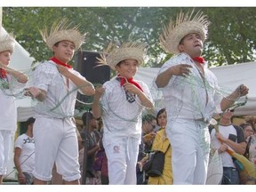
[[[222,96],[216,76],[207,68],[207,63],[205,63],[204,84],[196,63],[186,53],[180,53],[167,60],[158,74],[179,64],[188,64],[192,68],[189,76],[172,76],[169,83],[160,89],[163,91],[166,104],[167,122],[175,119],[196,120],[202,118],[209,121],[214,111],[221,112]]]

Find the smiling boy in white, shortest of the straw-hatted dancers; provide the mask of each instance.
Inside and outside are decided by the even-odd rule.
[[[153,108],[148,86],[133,80],[144,54],[145,44],[132,42],[108,52],[105,62],[117,76],[97,87],[94,95],[92,112],[94,117],[102,117],[110,185],[136,185],[141,112]]]

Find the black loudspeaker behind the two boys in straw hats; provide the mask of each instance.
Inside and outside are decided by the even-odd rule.
[[[100,65],[97,58],[100,58],[99,52],[78,51],[75,55],[74,68],[94,86],[104,84],[110,79],[110,68],[107,65]],[[92,99],[92,96],[88,97],[78,92],[76,108],[91,108]]]

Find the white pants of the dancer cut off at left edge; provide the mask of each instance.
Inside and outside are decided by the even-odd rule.
[[[0,175],[7,173],[12,131],[0,130]]]

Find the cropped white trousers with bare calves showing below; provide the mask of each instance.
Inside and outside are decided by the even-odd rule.
[[[51,180],[55,162],[63,180],[79,180],[78,142],[72,120],[36,117],[33,132],[36,147],[34,177]]]

